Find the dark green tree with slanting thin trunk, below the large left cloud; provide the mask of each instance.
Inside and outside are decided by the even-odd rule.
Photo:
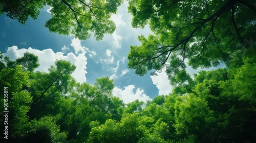
[[[72,82],[71,74],[76,66],[70,62],[59,60],[55,66],[49,68],[49,73],[37,71],[31,74],[32,86],[28,90],[33,97],[28,112],[31,119],[44,117],[51,112],[56,115],[59,110],[57,104],[61,95],[68,92],[69,83]]]

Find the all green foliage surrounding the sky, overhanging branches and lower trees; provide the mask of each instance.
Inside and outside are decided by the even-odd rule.
[[[1,1],[0,14],[20,23],[52,7],[51,32],[97,40],[115,30],[116,1]],[[0,98],[8,89],[10,142],[256,142],[256,8],[254,1],[129,1],[132,26],[153,31],[131,45],[136,74],[166,67],[173,86],[146,103],[113,96],[109,77],[94,84],[71,76],[76,66],[57,60],[35,71],[38,57],[10,60],[0,53]],[[251,14],[252,13],[252,14]],[[187,62],[186,62],[187,61]],[[191,77],[186,67],[217,66]],[[155,72],[153,73],[155,74]],[[1,106],[0,110],[4,111]],[[0,113],[3,117],[3,112]],[[1,129],[5,128],[0,124]]]

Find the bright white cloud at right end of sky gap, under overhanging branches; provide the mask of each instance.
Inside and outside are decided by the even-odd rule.
[[[162,68],[161,72],[157,72],[157,76],[150,76],[153,84],[158,88],[159,95],[167,95],[172,92],[173,87],[169,84],[169,79],[167,74],[165,73],[165,67]]]

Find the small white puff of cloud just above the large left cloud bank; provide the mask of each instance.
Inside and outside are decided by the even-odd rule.
[[[71,46],[74,48],[75,50],[75,53],[78,54],[78,53],[91,53],[91,55],[97,55],[96,52],[94,51],[90,51],[88,47],[85,47],[85,46],[82,46],[81,45],[81,40],[79,40],[78,38],[73,38],[71,40]]]

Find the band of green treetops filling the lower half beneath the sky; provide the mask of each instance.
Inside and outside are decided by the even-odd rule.
[[[12,142],[256,141],[256,64],[250,56],[193,79],[184,70],[173,76],[172,93],[127,104],[113,96],[108,77],[77,83],[68,61],[56,61],[44,73],[28,70],[38,66],[33,54],[15,61],[0,56]],[[1,94],[2,105],[5,99]]]

